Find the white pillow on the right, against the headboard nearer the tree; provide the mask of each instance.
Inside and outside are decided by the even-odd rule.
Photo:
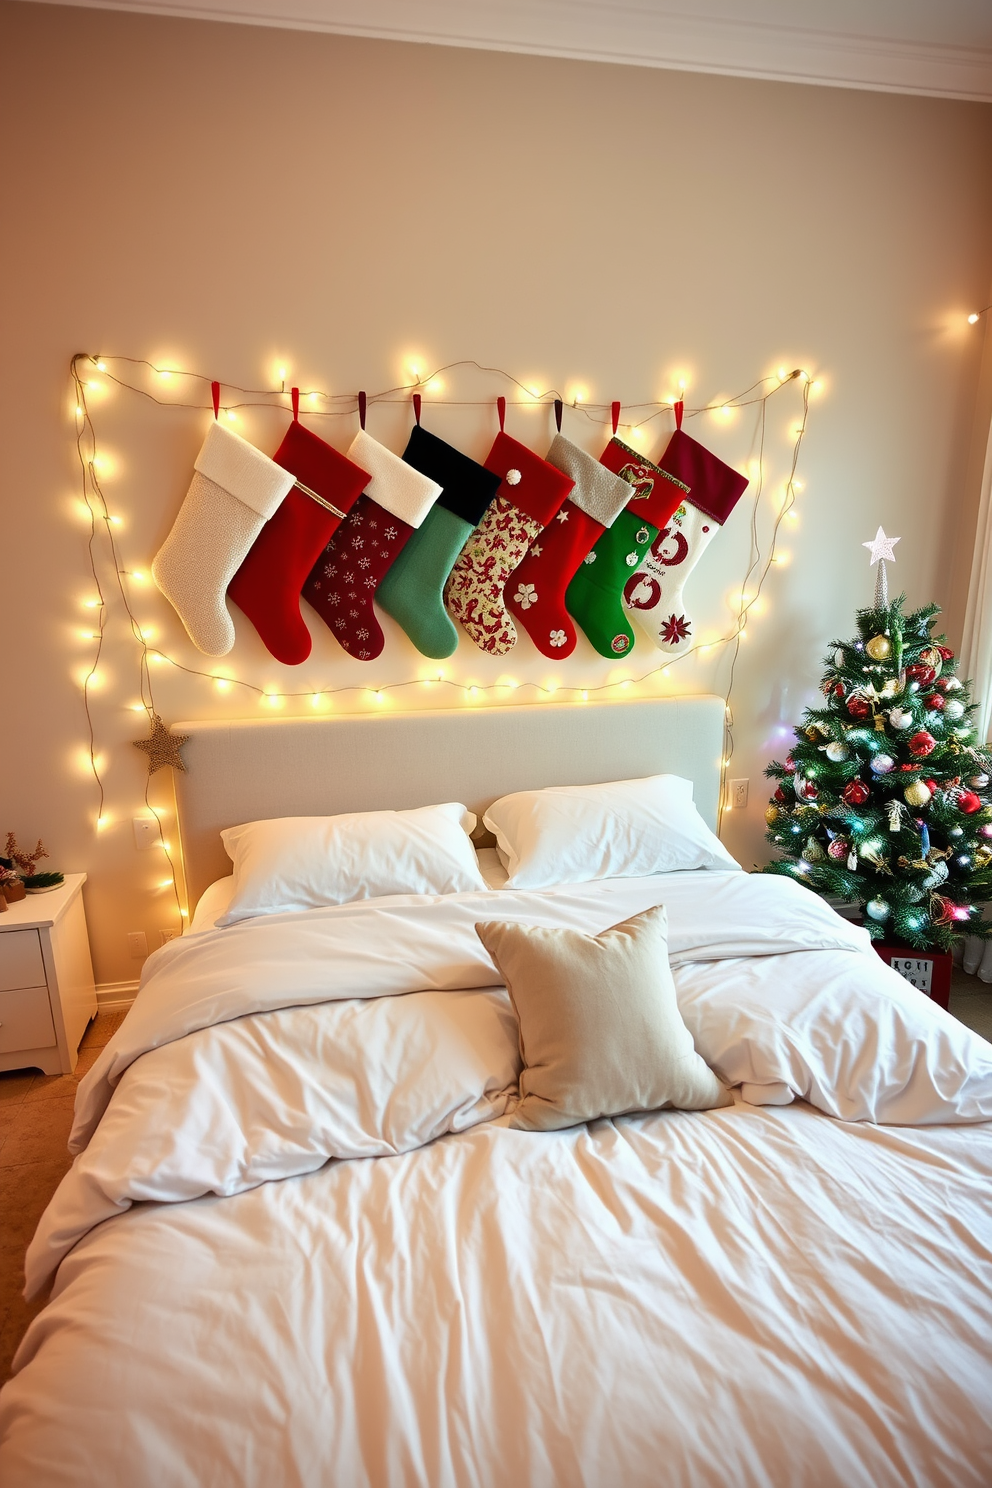
[[[483,820],[506,854],[507,888],[741,870],[696,811],[692,781],[678,775],[518,790]]]

